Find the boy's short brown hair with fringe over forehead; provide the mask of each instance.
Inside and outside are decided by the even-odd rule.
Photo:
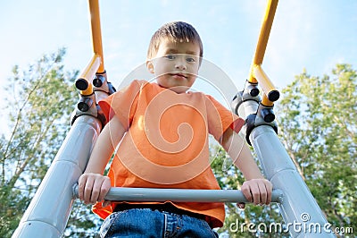
[[[172,21],[164,24],[159,30],[156,30],[150,40],[147,50],[147,59],[153,59],[156,55],[160,43],[163,39],[169,39],[172,42],[193,42],[200,47],[200,62],[203,57],[203,44],[195,28],[183,21]]]

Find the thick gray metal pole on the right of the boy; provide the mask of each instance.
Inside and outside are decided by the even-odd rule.
[[[253,106],[254,104],[256,106]],[[329,230],[330,224],[303,182],[303,178],[298,174],[277,133],[270,123],[263,122],[259,114],[262,105],[258,107],[258,102],[245,100],[238,106],[243,108],[236,108],[236,112],[244,118],[256,114],[255,127],[249,134],[249,140],[266,178],[275,190],[283,192],[283,200],[278,206],[290,234],[293,237],[336,237]],[[258,109],[253,112],[255,108]]]

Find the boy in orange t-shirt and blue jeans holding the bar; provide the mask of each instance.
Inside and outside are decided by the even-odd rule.
[[[202,56],[201,38],[190,24],[165,24],[154,33],[147,53],[146,66],[156,82],[133,81],[99,102],[109,123],[79,177],[79,199],[96,203],[94,212],[105,218],[102,237],[216,237],[212,228],[223,225],[222,203],[102,203],[111,186],[219,190],[209,162],[209,133],[245,175],[241,190],[246,199],[270,203],[272,185],[237,135],[244,120],[214,98],[187,91]]]

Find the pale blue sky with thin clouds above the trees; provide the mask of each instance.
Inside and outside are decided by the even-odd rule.
[[[104,65],[109,81],[118,86],[131,70],[145,63],[148,42],[163,23],[187,21],[203,39],[204,58],[241,89],[265,6],[265,0],[102,0]],[[304,68],[314,75],[329,73],[337,63],[355,68],[356,13],[355,0],[279,1],[262,64],[278,89]],[[1,83],[11,75],[14,64],[26,67],[59,47],[67,47],[68,69],[83,69],[92,55],[86,0],[2,0],[0,22]]]

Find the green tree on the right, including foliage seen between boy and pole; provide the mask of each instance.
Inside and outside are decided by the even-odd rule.
[[[355,231],[357,72],[349,64],[337,64],[332,76],[313,77],[303,72],[283,89],[281,98],[275,112],[278,136],[286,151],[328,222],[334,227],[353,227]],[[215,157],[213,171],[221,188],[239,189],[244,177],[235,166],[226,166],[228,156],[225,151],[220,147],[213,149],[212,157]],[[227,204],[226,211],[220,234],[228,234],[228,237],[289,237],[289,234],[252,233],[246,225],[242,232],[240,225],[244,223],[283,225],[275,204],[268,207],[248,205],[245,210]]]

